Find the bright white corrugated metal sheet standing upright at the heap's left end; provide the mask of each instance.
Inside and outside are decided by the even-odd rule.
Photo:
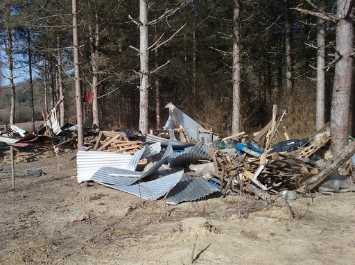
[[[77,180],[79,183],[91,180],[92,176],[98,169],[105,166],[114,167],[116,169],[133,169],[134,163],[131,160],[139,162],[138,157],[124,153],[110,153],[101,151],[78,151],[76,154]],[[137,164],[136,164],[137,166]]]

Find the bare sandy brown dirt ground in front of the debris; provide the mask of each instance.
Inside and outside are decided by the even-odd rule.
[[[354,263],[354,194],[297,198],[297,220],[281,198],[268,207],[239,196],[168,206],[78,185],[73,155],[60,155],[61,171],[55,157],[16,164],[46,175],[17,178],[15,190],[0,177],[0,264]]]

